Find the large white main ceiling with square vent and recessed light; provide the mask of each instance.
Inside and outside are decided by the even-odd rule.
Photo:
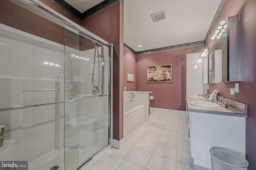
[[[124,0],[124,43],[144,51],[204,40],[220,1]],[[153,22],[163,10],[167,20]]]

